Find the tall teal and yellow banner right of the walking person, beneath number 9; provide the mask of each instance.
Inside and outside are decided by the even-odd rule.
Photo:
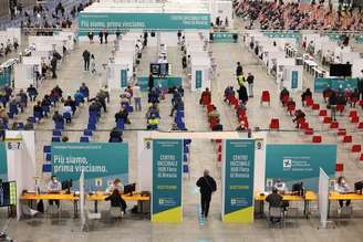
[[[226,140],[222,221],[253,221],[253,172],[255,140]]]

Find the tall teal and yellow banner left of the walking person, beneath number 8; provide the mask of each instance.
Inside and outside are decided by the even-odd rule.
[[[153,222],[182,222],[182,139],[153,140]]]

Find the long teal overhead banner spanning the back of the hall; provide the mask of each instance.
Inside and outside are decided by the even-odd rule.
[[[96,13],[81,12],[79,15],[80,35],[90,30],[209,30],[209,13]]]

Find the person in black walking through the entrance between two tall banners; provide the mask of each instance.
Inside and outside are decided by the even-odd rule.
[[[209,204],[211,193],[217,191],[217,183],[212,177],[209,176],[209,170],[205,170],[203,177],[197,181],[200,189],[201,214],[207,218],[209,212]]]

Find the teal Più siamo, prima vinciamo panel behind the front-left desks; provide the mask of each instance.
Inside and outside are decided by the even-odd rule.
[[[104,190],[115,178],[128,183],[127,143],[52,143],[52,173],[79,187],[84,170],[86,190]]]

